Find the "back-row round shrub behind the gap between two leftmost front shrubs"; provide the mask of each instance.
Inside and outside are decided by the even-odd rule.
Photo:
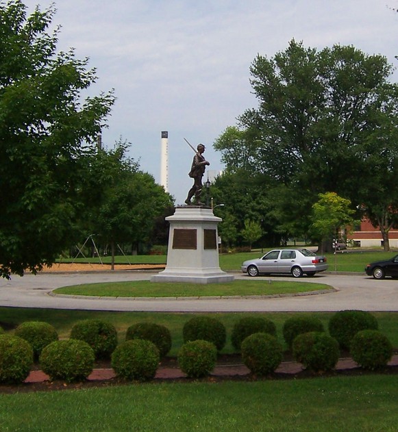
[[[42,349],[58,340],[58,333],[48,322],[26,321],[16,327],[14,334],[32,345],[34,359],[38,360]]]

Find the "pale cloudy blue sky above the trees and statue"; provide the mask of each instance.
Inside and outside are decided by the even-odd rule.
[[[52,0],[25,0],[28,13]],[[90,58],[97,82],[114,89],[104,147],[122,138],[129,156],[160,183],[161,132],[169,131],[168,192],[184,203],[194,147],[210,173],[223,169],[212,144],[257,107],[249,83],[256,55],[272,58],[293,38],[305,47],[353,45],[398,66],[398,0],[55,0],[58,50]],[[391,77],[397,81],[398,73]],[[84,94],[83,94],[84,95]],[[206,181],[206,174],[204,181]]]

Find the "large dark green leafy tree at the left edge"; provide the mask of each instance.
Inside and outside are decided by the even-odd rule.
[[[0,274],[36,272],[75,239],[77,195],[89,153],[114,103],[84,99],[96,80],[88,59],[56,53],[55,8],[26,14],[0,4]]]

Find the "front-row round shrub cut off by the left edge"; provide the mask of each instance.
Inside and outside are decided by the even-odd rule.
[[[0,383],[22,383],[33,364],[33,349],[18,336],[0,335]]]

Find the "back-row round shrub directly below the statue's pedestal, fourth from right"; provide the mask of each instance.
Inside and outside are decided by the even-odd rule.
[[[184,324],[182,329],[184,342],[207,340],[221,351],[227,340],[227,331],[222,322],[210,316],[196,316]]]

